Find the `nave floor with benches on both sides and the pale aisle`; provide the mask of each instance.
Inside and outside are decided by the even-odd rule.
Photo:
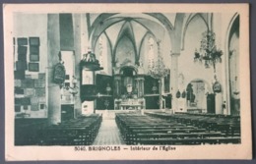
[[[188,145],[240,143],[236,116],[106,111],[43,126],[19,123],[16,145]],[[24,126],[21,126],[24,125]]]

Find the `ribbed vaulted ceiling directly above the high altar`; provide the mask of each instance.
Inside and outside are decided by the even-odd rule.
[[[163,37],[164,25],[173,28],[171,23],[161,14],[100,14],[90,15],[92,45],[101,33],[105,33],[112,47],[123,37],[131,39],[139,50],[139,45],[146,33],[150,32],[155,37]]]

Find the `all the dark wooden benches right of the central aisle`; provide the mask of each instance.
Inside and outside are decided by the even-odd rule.
[[[232,117],[202,114],[170,115],[162,112],[146,114],[148,117],[138,114],[116,115],[117,126],[127,144],[240,142],[239,120]]]

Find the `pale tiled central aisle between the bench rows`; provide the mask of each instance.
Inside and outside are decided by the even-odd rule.
[[[93,145],[125,144],[113,116],[103,113],[103,119]]]

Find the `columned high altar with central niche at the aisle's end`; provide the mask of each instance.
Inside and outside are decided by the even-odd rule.
[[[115,67],[113,73],[114,109],[145,109],[143,68],[126,63]]]

